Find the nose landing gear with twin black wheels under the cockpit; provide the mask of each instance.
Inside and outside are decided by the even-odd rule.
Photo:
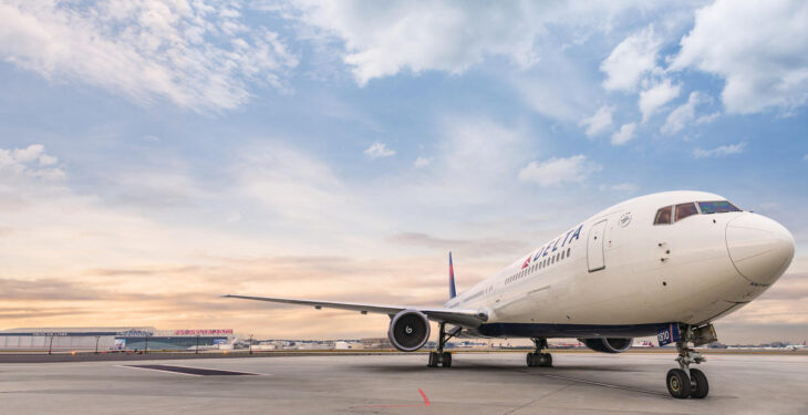
[[[671,396],[677,400],[684,400],[687,396],[694,400],[701,400],[709,393],[709,383],[704,372],[697,369],[690,369],[691,364],[700,364],[705,362],[706,359],[695,350],[693,350],[688,343],[693,342],[696,344],[701,343],[705,335],[709,335],[713,340],[715,339],[715,332],[712,325],[694,329],[692,325],[682,325],[681,339],[676,342],[676,350],[678,356],[680,369],[672,369],[667,371],[667,392]]]

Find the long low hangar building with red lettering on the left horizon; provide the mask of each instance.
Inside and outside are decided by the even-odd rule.
[[[37,328],[0,331],[0,351],[134,351],[227,349],[232,329]]]

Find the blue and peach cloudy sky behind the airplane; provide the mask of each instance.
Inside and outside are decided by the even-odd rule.
[[[797,241],[716,323],[808,338],[808,2],[0,0],[0,329],[383,336],[624,199]]]

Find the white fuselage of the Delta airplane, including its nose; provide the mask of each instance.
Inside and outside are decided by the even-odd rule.
[[[666,191],[612,206],[445,307],[485,312],[485,324],[465,331],[480,336],[640,336],[706,324],[760,295],[795,252],[778,222],[697,204],[724,200]],[[654,225],[661,208],[688,203],[697,214]]]

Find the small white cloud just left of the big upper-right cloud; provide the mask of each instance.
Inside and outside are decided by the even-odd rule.
[[[662,41],[654,34],[654,27],[625,38],[601,64],[605,72],[603,87],[609,91],[636,90],[640,79],[656,68],[656,55]]]

